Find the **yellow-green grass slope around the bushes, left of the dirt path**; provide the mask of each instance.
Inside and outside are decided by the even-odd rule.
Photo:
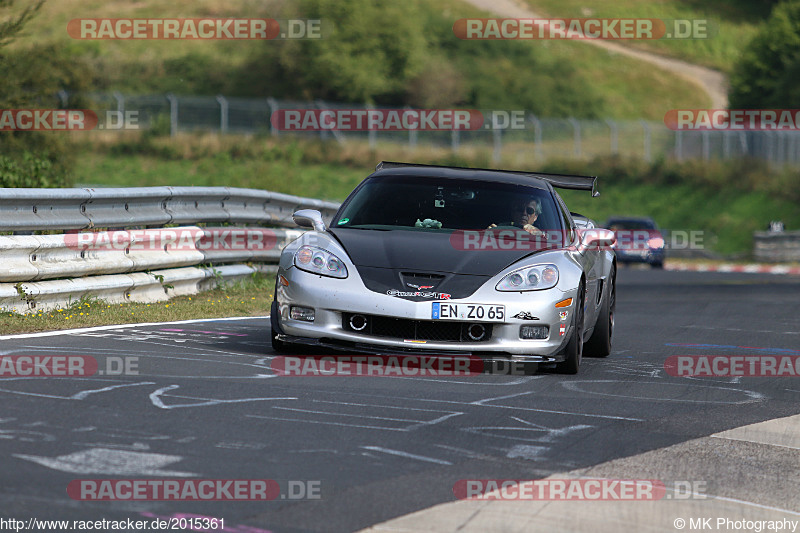
[[[458,0],[420,0],[429,11],[440,15],[441,32],[452,39],[449,25],[464,17],[489,16]],[[23,8],[15,4],[13,10]],[[259,47],[277,43],[260,41],[203,40],[75,40],[66,31],[67,23],[76,18],[176,18],[176,17],[265,17],[280,18],[279,2],[242,0],[225,3],[220,0],[49,0],[26,27],[23,36],[12,43],[15,47],[55,44],[76,57],[87,60],[97,73],[95,85],[101,91],[123,94],[226,94],[228,96],[270,96],[250,94],[246,76],[248,61],[257,56]],[[334,21],[335,22],[335,21]],[[446,24],[445,24],[446,23]],[[447,27],[445,27],[447,26]],[[335,34],[331,39],[335,39]],[[450,43],[456,44],[456,43]],[[459,57],[469,62],[468,49],[487,47],[485,42],[469,41],[456,46]],[[587,99],[601,102],[601,117],[618,119],[662,120],[666,110],[703,108],[709,102],[697,86],[680,77],[658,71],[637,60],[619,57],[606,51],[576,42],[517,42],[515,45],[535,47],[540,65],[566,64],[582,80],[587,80],[591,94]],[[524,60],[497,58],[507,83],[530,70]],[[475,70],[475,69],[473,69]],[[518,74],[515,76],[514,73]],[[485,76],[485,72],[461,72],[465,76]],[[477,78],[476,78],[477,79]],[[544,80],[547,81],[547,80]],[[504,82],[504,83],[506,83]],[[542,83],[541,98],[557,101],[558,91]],[[505,92],[505,90],[504,90]],[[502,94],[502,93],[501,93]],[[274,96],[274,95],[273,95]],[[498,100],[492,104],[501,104]],[[491,104],[491,102],[490,102]],[[503,106],[507,107],[507,106]],[[576,109],[574,112],[579,113]],[[569,111],[567,110],[567,114]]]

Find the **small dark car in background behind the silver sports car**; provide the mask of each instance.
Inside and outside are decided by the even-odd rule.
[[[652,218],[615,216],[603,227],[617,236],[614,245],[617,262],[647,263],[653,268],[664,268],[664,235]]]

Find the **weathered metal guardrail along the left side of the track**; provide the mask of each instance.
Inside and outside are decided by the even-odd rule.
[[[296,227],[292,213],[317,209],[329,221],[338,207],[231,187],[0,188],[0,231],[12,233],[0,235],[0,309],[47,311],[86,297],[109,303],[161,301],[274,271],[281,249],[303,233],[283,229]],[[213,232],[195,224],[266,234],[270,243],[202,246]],[[14,234],[63,230],[71,232]],[[181,246],[141,246],[163,232],[192,238]],[[91,239],[79,239],[89,234]],[[114,246],[93,245],[103,242],[100,237]]]

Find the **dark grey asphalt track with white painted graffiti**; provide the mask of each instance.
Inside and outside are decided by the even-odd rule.
[[[101,369],[138,358],[138,375],[0,378],[0,518],[355,531],[454,501],[458,480],[543,478],[798,414],[796,377],[673,377],[664,361],[800,355],[799,311],[798,278],[622,268],[613,353],[577,376],[275,377],[261,318],[0,340],[0,355]],[[318,482],[321,498],[80,501],[76,479],[271,479],[284,496]]]

